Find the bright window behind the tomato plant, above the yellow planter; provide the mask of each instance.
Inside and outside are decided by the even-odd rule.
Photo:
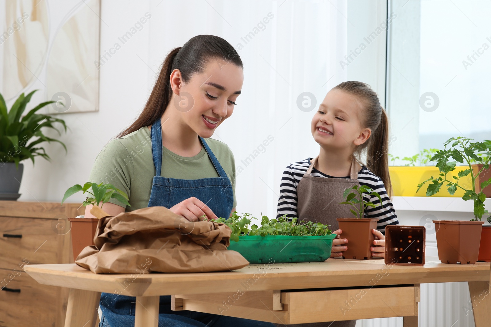
[[[390,153],[491,139],[490,1],[389,1],[386,106]],[[401,164],[395,161],[395,164]]]

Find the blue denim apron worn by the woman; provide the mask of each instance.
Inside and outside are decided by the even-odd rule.
[[[162,130],[160,118],[152,125],[152,157],[156,176],[153,177],[152,190],[148,206],[164,206],[170,208],[179,202],[195,197],[218,216],[229,217],[232,211],[234,194],[230,179],[225,174],[206,142],[199,137],[219,177],[201,179],[177,179],[160,176],[162,169]],[[146,128],[146,127],[144,127]],[[225,326],[258,326],[273,327],[273,324],[219,316],[195,311],[172,311],[171,296],[161,296],[159,306],[159,327],[225,327]],[[100,307],[102,318],[99,327],[134,327],[135,297],[101,294]]]

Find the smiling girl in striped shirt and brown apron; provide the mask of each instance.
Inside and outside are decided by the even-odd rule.
[[[353,185],[366,185],[379,193],[364,196],[376,207],[365,209],[365,218],[379,218],[372,255],[384,256],[384,231],[397,225],[397,216],[389,199],[391,184],[387,165],[388,121],[377,94],[358,81],[343,82],[330,90],[312,119],[312,135],[321,146],[317,158],[294,162],[281,177],[277,216],[314,220],[338,229],[336,218],[352,217],[343,191]],[[366,150],[367,165],[359,164]],[[337,230],[336,230],[337,229]],[[339,237],[339,236],[338,236]],[[331,257],[342,256],[347,239],[333,240]]]

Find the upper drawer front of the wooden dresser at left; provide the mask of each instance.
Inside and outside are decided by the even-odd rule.
[[[56,226],[65,220],[0,217],[0,268],[69,262],[69,227]]]

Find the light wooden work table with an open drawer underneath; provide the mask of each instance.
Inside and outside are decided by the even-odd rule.
[[[491,326],[490,264],[423,267],[383,259],[266,263],[221,273],[96,275],[76,264],[27,265],[41,284],[70,288],[65,327],[93,326],[101,292],[136,297],[135,326],[157,327],[159,296],[193,310],[281,324],[404,317],[418,325],[419,284],[467,281],[476,327]],[[88,324],[87,324],[88,323]]]

